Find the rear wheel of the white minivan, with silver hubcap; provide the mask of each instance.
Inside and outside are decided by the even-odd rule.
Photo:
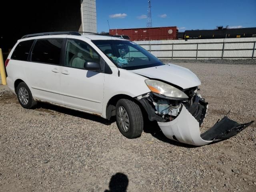
[[[23,108],[31,109],[36,106],[37,102],[34,100],[26,83],[21,82],[18,84],[16,94],[18,101]]]

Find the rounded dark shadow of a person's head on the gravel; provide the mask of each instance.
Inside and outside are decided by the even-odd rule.
[[[126,192],[128,187],[128,177],[123,173],[116,173],[112,175],[108,188],[109,190],[105,190],[104,192]]]

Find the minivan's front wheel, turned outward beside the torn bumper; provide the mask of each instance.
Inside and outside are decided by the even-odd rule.
[[[116,124],[126,138],[139,137],[144,126],[140,107],[131,100],[120,99],[116,104]]]

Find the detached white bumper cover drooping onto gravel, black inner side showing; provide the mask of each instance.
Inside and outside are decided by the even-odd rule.
[[[205,116],[205,114],[202,115]],[[158,125],[164,135],[171,140],[195,146],[202,146],[213,141],[235,136],[254,121],[239,124],[230,120],[227,116],[224,116],[222,120],[217,122],[203,134],[200,134],[199,122],[192,116],[185,106],[183,106],[177,118],[170,122],[158,122]]]

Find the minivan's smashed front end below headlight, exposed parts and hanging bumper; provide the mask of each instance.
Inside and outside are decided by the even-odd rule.
[[[239,124],[224,116],[216,124],[200,133],[200,126],[207,113],[208,103],[197,93],[198,88],[186,91],[188,100],[170,100],[152,92],[137,97],[148,112],[150,120],[157,120],[164,135],[178,142],[202,146],[235,136],[252,122]]]

